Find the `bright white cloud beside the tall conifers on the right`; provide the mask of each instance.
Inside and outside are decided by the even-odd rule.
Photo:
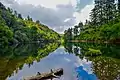
[[[78,24],[80,21],[85,23],[86,19],[89,20],[89,14],[93,8],[94,4],[91,4],[84,7],[80,12],[75,12],[74,16],[76,17],[76,24]]]

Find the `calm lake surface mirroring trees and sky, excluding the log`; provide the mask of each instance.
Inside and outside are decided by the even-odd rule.
[[[0,80],[21,80],[59,68],[64,73],[53,80],[120,80],[118,45],[28,44],[1,47],[0,52]]]

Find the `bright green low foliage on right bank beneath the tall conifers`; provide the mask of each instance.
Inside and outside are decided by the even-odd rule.
[[[76,39],[115,41],[120,39],[120,22],[113,25],[105,24],[98,28],[85,29]]]

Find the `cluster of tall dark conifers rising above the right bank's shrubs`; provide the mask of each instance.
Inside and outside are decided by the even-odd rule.
[[[95,7],[91,12],[91,22],[100,26],[116,18],[115,0],[95,0]]]

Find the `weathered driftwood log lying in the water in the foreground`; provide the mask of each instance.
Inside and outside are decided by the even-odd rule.
[[[57,70],[52,70],[51,72],[48,73],[37,73],[36,76],[28,77],[24,80],[47,80],[47,79],[53,79],[53,78],[60,78],[60,76],[63,75],[63,69],[57,69]]]

